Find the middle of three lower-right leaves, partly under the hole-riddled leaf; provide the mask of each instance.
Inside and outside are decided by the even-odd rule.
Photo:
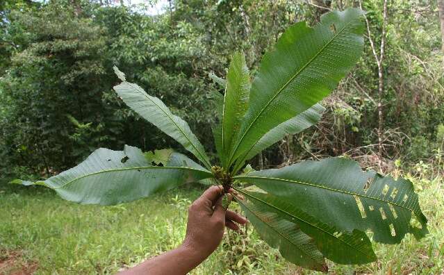
[[[302,232],[313,238],[317,249],[330,260],[355,265],[376,260],[372,244],[362,231],[355,229],[352,233],[340,232],[338,228],[304,213],[286,199],[263,192],[247,192],[237,188],[236,190],[249,199],[261,213],[274,213],[279,219],[297,224]]]

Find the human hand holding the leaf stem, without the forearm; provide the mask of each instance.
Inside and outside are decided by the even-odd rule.
[[[238,224],[247,222],[245,217],[223,208],[222,191],[222,187],[212,186],[188,208],[188,223],[183,247],[199,253],[202,259],[210,256],[219,246],[225,226],[238,230]]]

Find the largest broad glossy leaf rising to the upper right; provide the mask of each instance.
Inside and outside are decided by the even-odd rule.
[[[252,83],[249,109],[229,163],[272,128],[326,97],[363,49],[363,11],[329,12],[313,28],[294,24],[265,53]]]

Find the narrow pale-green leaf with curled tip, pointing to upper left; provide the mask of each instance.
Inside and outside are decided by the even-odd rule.
[[[114,66],[115,74],[122,83],[114,87],[122,100],[141,117],[147,119],[167,135],[174,138],[190,151],[209,169],[211,163],[204,147],[192,133],[190,126],[180,117],[173,115],[167,106],[157,97],[151,97],[139,85],[126,81],[125,75]]]

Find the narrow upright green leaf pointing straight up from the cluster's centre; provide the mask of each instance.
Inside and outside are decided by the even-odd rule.
[[[242,123],[242,117],[248,108],[249,71],[242,53],[235,53],[227,73],[227,90],[224,94],[224,110],[222,114],[222,151],[229,156],[233,147],[233,138]],[[227,163],[223,163],[227,168]]]

